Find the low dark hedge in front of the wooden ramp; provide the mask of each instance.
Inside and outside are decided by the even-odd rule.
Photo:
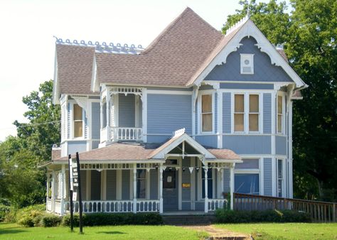
[[[291,210],[232,211],[218,209],[215,212],[218,223],[247,222],[311,222],[309,214]]]

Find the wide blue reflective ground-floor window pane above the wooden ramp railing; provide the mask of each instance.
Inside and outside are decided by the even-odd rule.
[[[235,174],[235,192],[258,195],[259,174]]]

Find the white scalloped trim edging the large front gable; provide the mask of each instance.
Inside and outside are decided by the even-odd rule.
[[[291,80],[296,83],[296,87],[304,86],[305,83],[299,75],[289,66],[288,62],[282,58],[282,55],[277,51],[276,48],[272,45],[272,43],[267,40],[267,38],[261,33],[260,29],[257,28],[255,23],[253,23],[250,19],[247,19],[245,23],[240,24],[238,26],[237,33],[229,40],[228,44],[224,45],[223,48],[216,53],[213,60],[210,60],[209,64],[202,70],[200,75],[196,77],[194,80],[194,84],[200,86],[201,82],[205,79],[205,77],[213,70],[216,65],[222,65],[226,63],[228,55],[230,53],[235,52],[242,45],[240,41],[245,37],[253,37],[257,40],[257,48],[259,48],[262,52],[267,53],[269,58],[271,59],[271,63],[276,66],[282,67],[282,69],[287,72]]]

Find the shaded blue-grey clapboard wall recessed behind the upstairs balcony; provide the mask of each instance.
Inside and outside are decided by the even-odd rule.
[[[119,94],[119,126],[121,127],[134,127],[135,122],[135,102],[134,102],[134,94]]]

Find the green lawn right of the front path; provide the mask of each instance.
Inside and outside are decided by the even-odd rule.
[[[252,234],[255,239],[337,239],[336,223],[216,224],[215,227]]]

